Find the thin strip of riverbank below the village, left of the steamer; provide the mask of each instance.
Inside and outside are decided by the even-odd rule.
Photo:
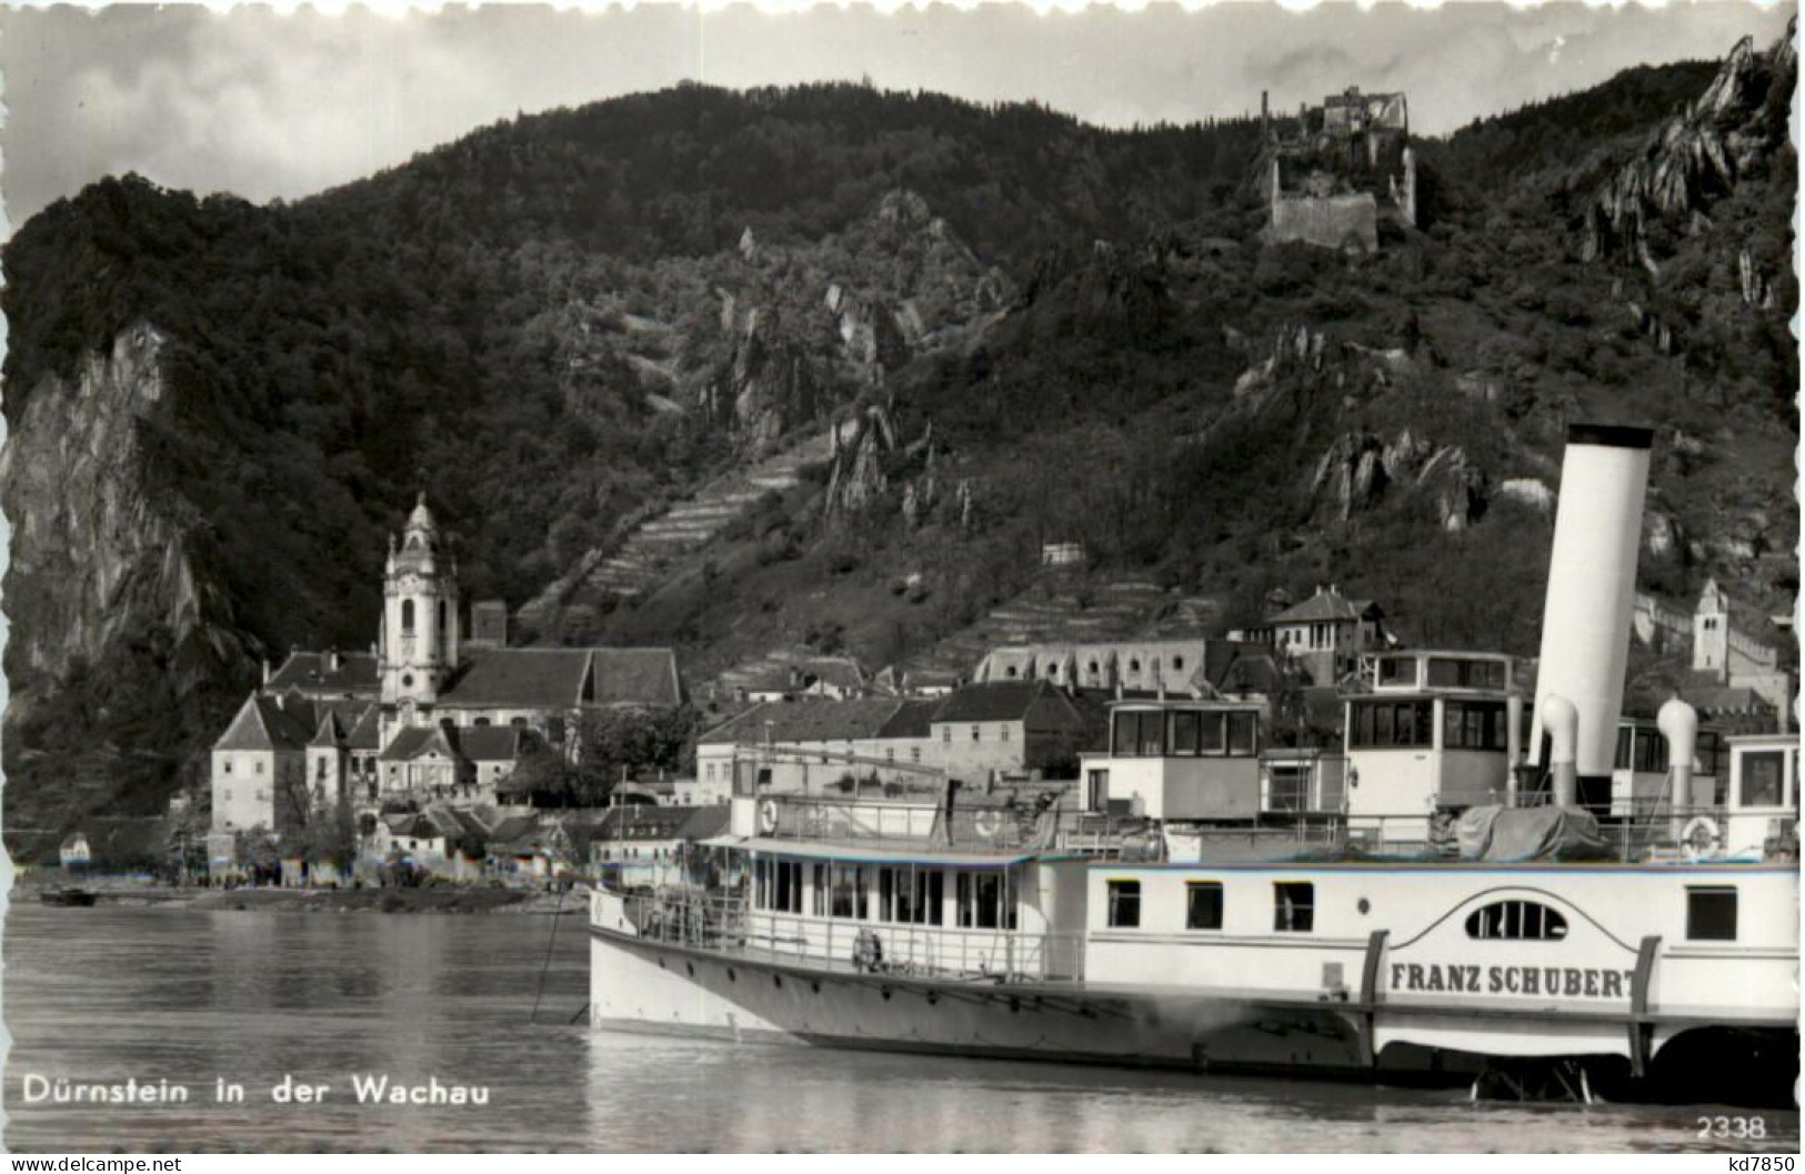
[[[310,912],[310,914],[574,914],[576,892],[543,889],[168,889],[150,885],[87,885],[106,907],[191,908],[197,912]],[[13,901],[38,903],[31,885],[16,885]]]

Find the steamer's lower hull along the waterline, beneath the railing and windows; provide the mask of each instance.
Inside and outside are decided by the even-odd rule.
[[[1785,1062],[1798,1055],[1798,1033],[1787,1030],[1736,1031],[1715,1040],[1717,1051],[1688,1049],[1675,1064],[1659,1057],[1632,1076],[1615,1055],[1632,1024],[1610,1017],[1511,1015],[1487,1024],[1457,1008],[856,974],[601,927],[590,927],[588,1015],[597,1030],[738,1044],[1388,1084],[1466,1085],[1489,1069],[1522,1073],[1525,1060],[1574,1058],[1592,1073],[1592,1089],[1614,1100],[1780,1105],[1791,1104],[1798,1075],[1796,1062]],[[1446,1046],[1421,1042],[1440,1035]],[[1711,1071],[1742,1071],[1745,1087],[1695,1084]]]

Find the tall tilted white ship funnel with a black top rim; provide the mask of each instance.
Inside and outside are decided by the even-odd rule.
[[[1561,798],[1563,804],[1576,797],[1590,804],[1610,802],[1652,443],[1648,428],[1572,424],[1567,430],[1531,739],[1536,766],[1560,762],[1558,755],[1552,762],[1541,760],[1543,735],[1554,733],[1545,701],[1561,697],[1572,704],[1578,787]]]

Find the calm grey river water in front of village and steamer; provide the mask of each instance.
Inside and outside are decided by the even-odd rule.
[[[588,970],[572,916],[20,903],[4,955],[11,1151],[1798,1149],[1796,1113],[1760,1114],[1765,1143],[1702,1141],[1709,1107],[1473,1105],[1455,1091],[597,1033],[569,1022]],[[486,1085],[489,1104],[357,1104],[354,1073]],[[22,1104],[27,1075],[161,1078],[191,1100]],[[274,1104],[285,1075],[330,1091]],[[217,1102],[220,1078],[244,1102]]]

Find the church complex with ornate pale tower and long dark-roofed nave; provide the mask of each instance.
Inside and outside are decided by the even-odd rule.
[[[471,609],[457,560],[421,495],[383,569],[372,654],[292,650],[213,746],[213,831],[287,831],[339,798],[493,806],[534,750],[576,755],[590,708],[684,703],[671,648],[509,648],[507,610]]]

